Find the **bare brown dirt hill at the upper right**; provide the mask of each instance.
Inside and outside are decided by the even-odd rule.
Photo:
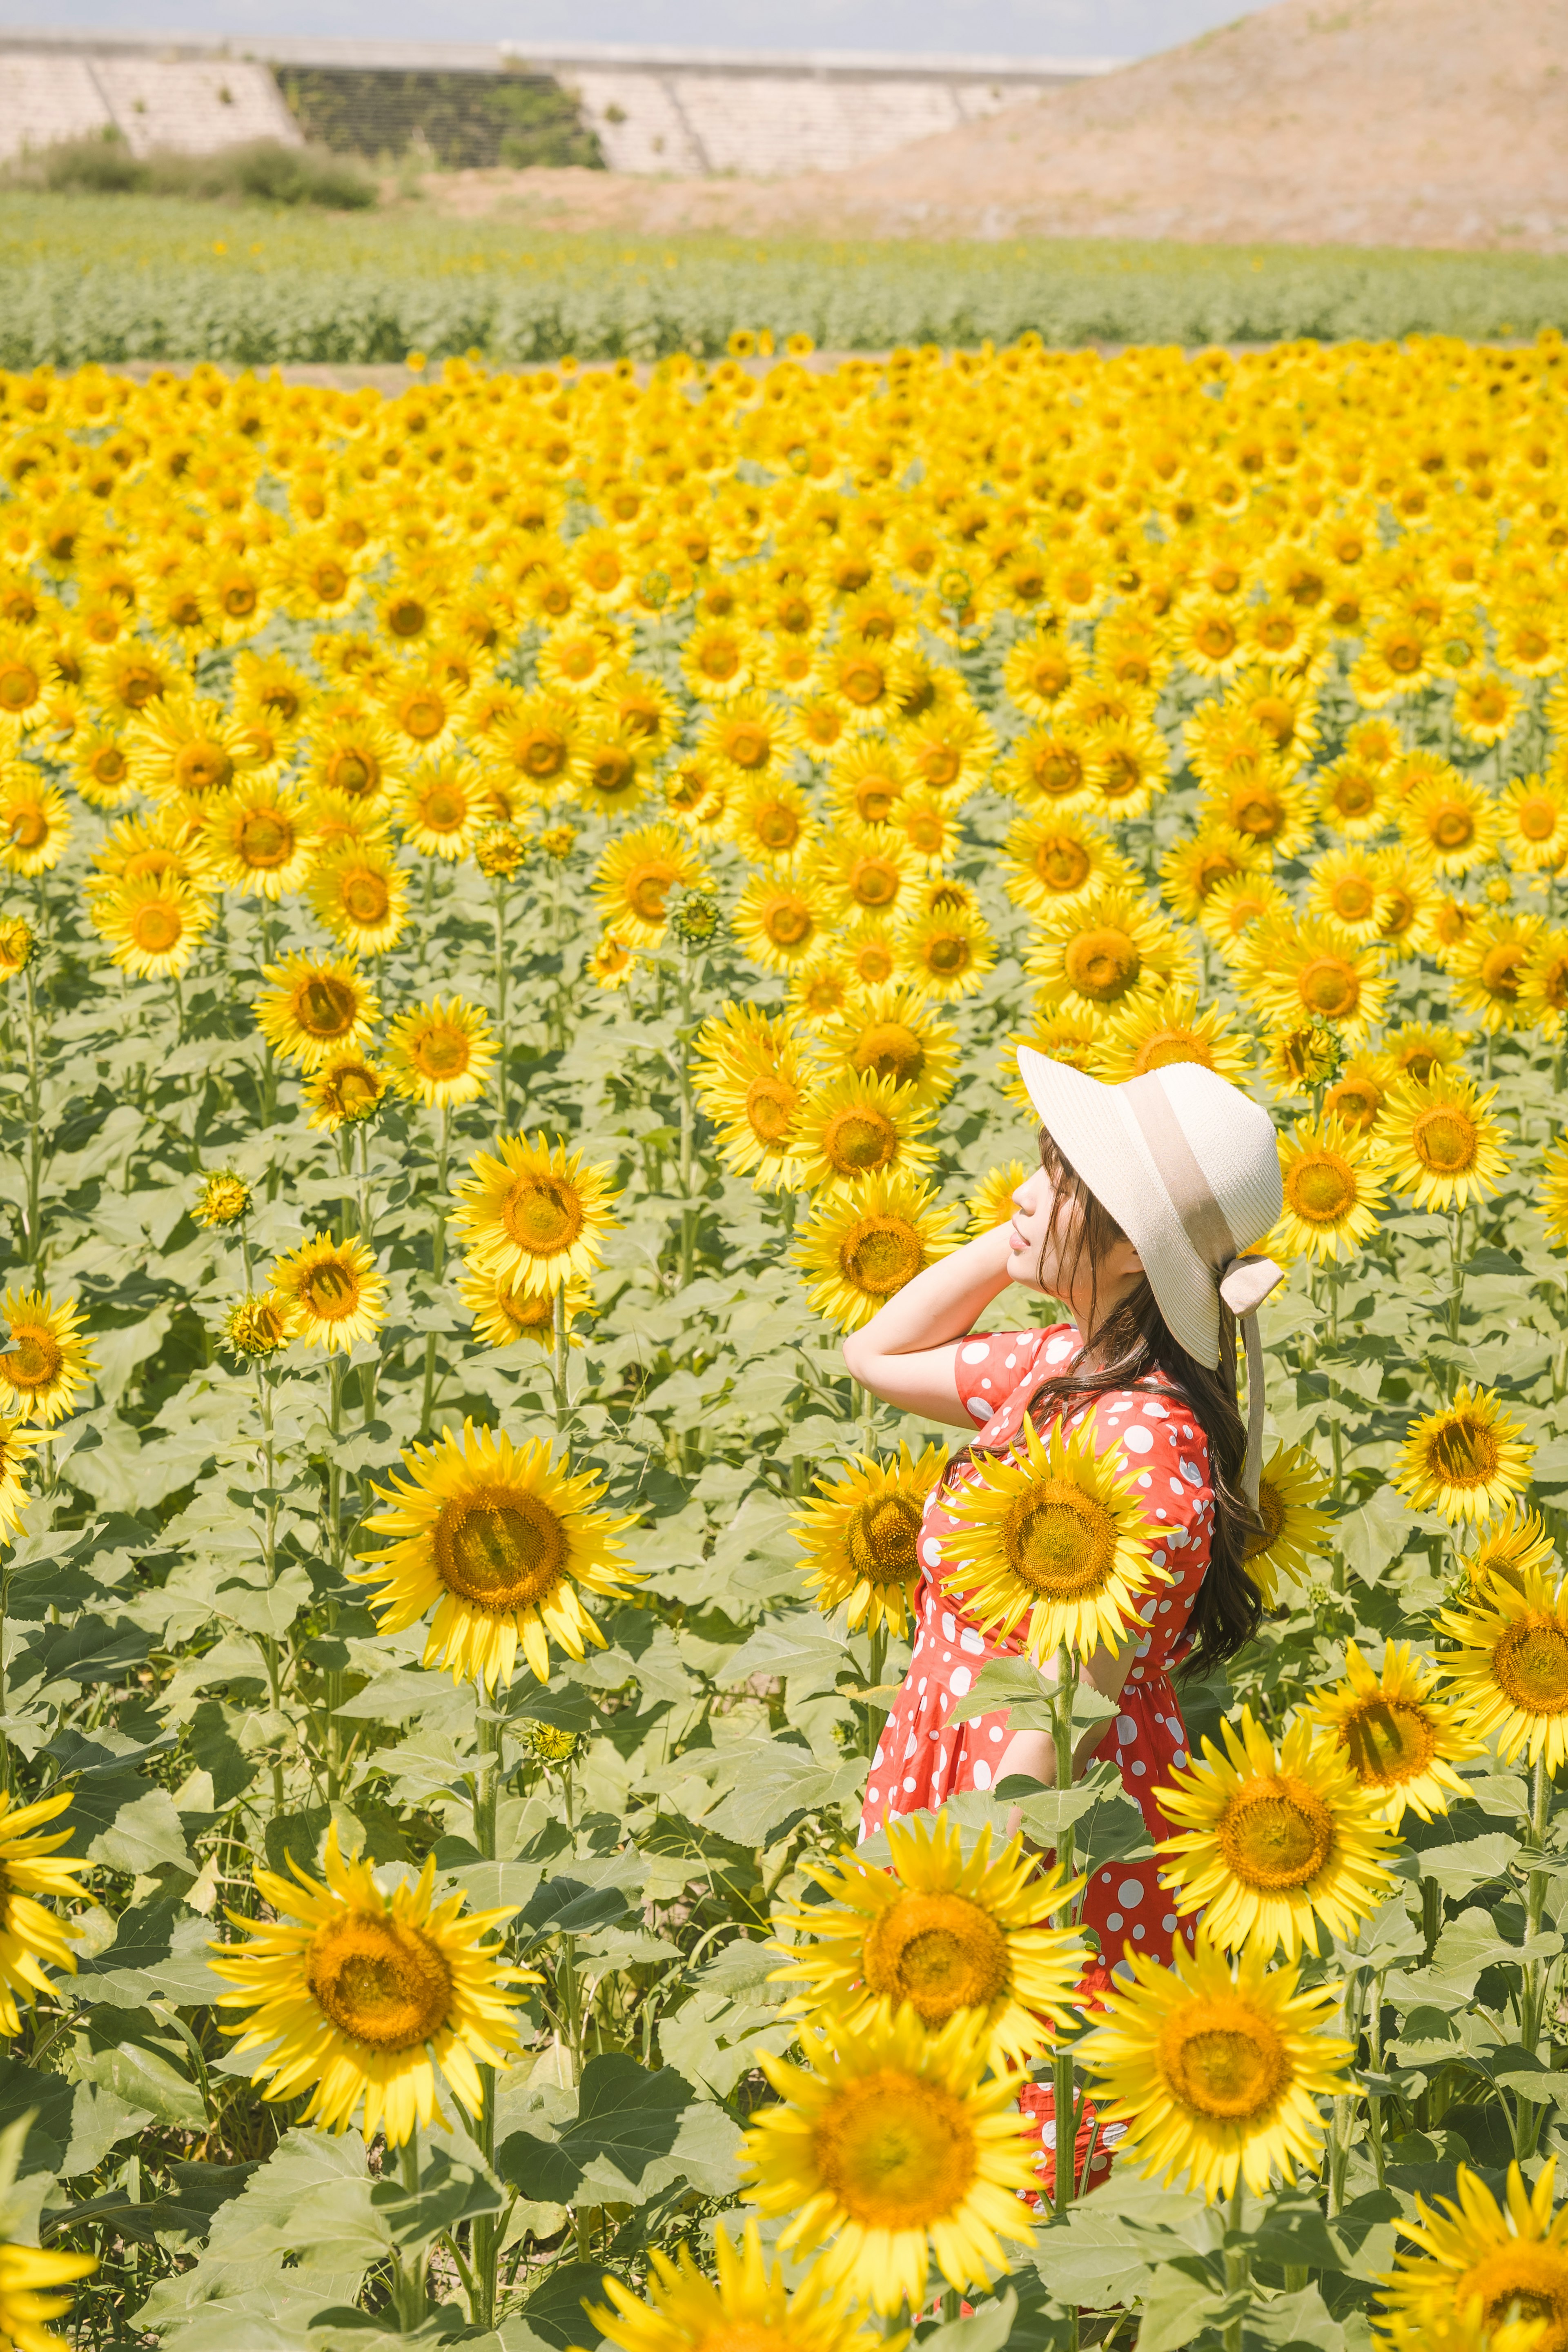
[[[1279,0],[851,172],[512,174],[562,228],[1568,247],[1568,0]]]

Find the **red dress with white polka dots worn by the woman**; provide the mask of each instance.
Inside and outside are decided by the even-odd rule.
[[[1072,1324],[1048,1331],[990,1331],[964,1341],[957,1355],[959,1399],[973,1414],[987,1446],[1016,1435],[1039,1385],[1056,1378],[1079,1352]],[[1171,1668],[1187,1649],[1187,1618],[1208,1569],[1213,1526],[1213,1486],[1208,1482],[1208,1444],[1187,1404],[1164,1376],[1150,1376],[1145,1388],[1112,1390],[1081,1406],[1070,1406],[1067,1430],[1093,1418],[1095,1451],[1117,1458],[1133,1472],[1150,1519],[1161,1529],[1154,1566],[1166,1569],[1161,1585],[1143,1604],[1147,1632],[1138,1644],[1133,1668],[1121,1689],[1121,1710],[1107,1726],[1100,1757],[1121,1764],[1121,1785],[1135,1799],[1150,1837],[1171,1837],[1173,1828],[1154,1804],[1154,1790],[1187,1762],[1187,1726],[1171,1684]],[[860,1837],[879,1830],[889,1813],[938,1811],[954,1790],[990,1788],[1009,1740],[1006,1708],[971,1715],[947,1729],[954,1700],[973,1686],[987,1658],[1023,1653],[1020,1635],[992,1639],[969,1616],[969,1595],[943,1573],[943,1538],[952,1529],[952,1505],[961,1512],[964,1486],[978,1477],[969,1454],[957,1454],[945,1477],[926,1498],[919,1526],[922,1583],[914,1595],[914,1656],[905,1684],[882,1729],[865,1790]],[[1020,1628],[1023,1632],[1023,1628]],[[1192,1940],[1180,1926],[1168,1896],[1159,1886],[1159,1865],[1126,1863],[1098,1870],[1084,1896],[1084,1926],[1100,1940],[1100,1959],[1084,1971],[1084,1994],[1093,1999],[1126,1952],[1157,1952],[1171,1962],[1173,1938]],[[1020,2100],[1048,2119],[1051,2093],[1037,2089]],[[1081,2143],[1093,2110],[1086,2112]],[[1046,2150],[1056,2131],[1044,2126]],[[1119,2126],[1105,2131],[1105,2143],[1121,2138]],[[1046,2157],[1051,2164],[1051,2154]],[[1093,2157],[1095,2180],[1105,2178],[1107,2154]]]

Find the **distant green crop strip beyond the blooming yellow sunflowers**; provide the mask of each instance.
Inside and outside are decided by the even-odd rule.
[[[733,327],[889,343],[1533,334],[1568,259],[1349,247],[635,242],[407,214],[353,223],[139,198],[0,198],[0,365],[496,362],[717,353]]]

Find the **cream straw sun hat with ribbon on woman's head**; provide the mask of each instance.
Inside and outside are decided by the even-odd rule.
[[[1284,1270],[1253,1251],[1281,1211],[1274,1122],[1197,1061],[1105,1087],[1065,1061],[1018,1049],[1041,1124],[1143,1258],[1171,1336],[1220,1362],[1220,1298],[1246,1338],[1246,1496],[1262,1470],[1258,1308]]]

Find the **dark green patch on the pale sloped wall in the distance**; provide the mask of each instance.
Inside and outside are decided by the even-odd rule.
[[[284,66],[284,103],[308,139],[353,155],[428,146],[447,169],[567,165],[604,169],[578,101],[536,73],[374,73]]]

